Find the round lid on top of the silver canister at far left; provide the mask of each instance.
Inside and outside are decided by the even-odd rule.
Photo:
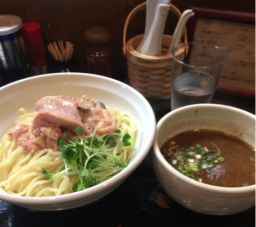
[[[0,35],[7,35],[19,31],[23,26],[20,17],[10,14],[0,15]]]

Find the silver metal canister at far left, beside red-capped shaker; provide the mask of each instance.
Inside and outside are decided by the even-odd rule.
[[[20,17],[0,15],[0,76],[2,85],[29,76],[25,53],[23,22]]]

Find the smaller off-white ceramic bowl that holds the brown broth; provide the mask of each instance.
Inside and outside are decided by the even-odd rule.
[[[255,147],[255,116],[218,104],[195,104],[167,113],[157,123],[153,168],[164,191],[180,205],[198,213],[229,215],[255,205],[255,185],[217,187],[195,181],[175,170],[159,148],[173,135],[196,128],[231,133]]]

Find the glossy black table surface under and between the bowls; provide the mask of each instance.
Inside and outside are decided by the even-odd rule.
[[[148,99],[157,122],[170,111],[170,100]],[[213,103],[232,105],[255,114],[255,99],[216,92]],[[0,201],[0,227],[164,227],[255,226],[255,206],[243,213],[210,216],[174,202],[153,172],[152,149],[141,165],[115,191],[90,205],[61,211],[34,211]]]

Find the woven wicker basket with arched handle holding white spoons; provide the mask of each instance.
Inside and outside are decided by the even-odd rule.
[[[137,35],[126,42],[126,31],[130,19],[140,10],[145,9],[147,3],[142,3],[130,12],[126,19],[123,31],[123,54],[127,57],[128,77],[130,84],[144,97],[169,99],[171,94],[171,73],[172,54],[165,55],[169,48],[172,36],[163,35],[162,55],[147,56],[141,55],[136,48],[143,39],[144,34]],[[170,4],[170,11],[179,18],[181,12],[174,5]],[[184,42],[187,42],[187,32],[184,30]],[[185,49],[177,52],[179,59],[184,58]]]

